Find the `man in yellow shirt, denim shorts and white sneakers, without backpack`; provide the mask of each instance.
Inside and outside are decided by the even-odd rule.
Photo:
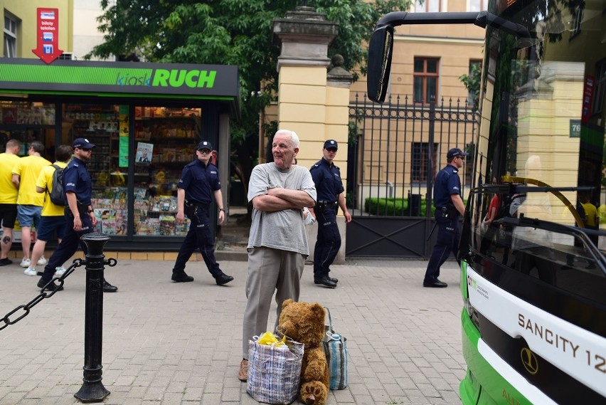
[[[36,192],[36,180],[43,167],[50,166],[50,162],[41,154],[44,145],[34,141],[28,149],[28,156],[18,160],[13,168],[13,184],[18,191],[17,196],[17,219],[21,226],[21,248],[23,248],[23,260],[21,267],[28,268],[31,264],[29,249],[31,248],[31,226],[38,228],[41,219],[44,194]],[[46,264],[46,259],[40,259],[39,265]]]

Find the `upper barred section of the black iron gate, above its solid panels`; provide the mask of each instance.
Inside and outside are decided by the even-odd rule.
[[[446,152],[459,147],[473,156],[477,112],[467,100],[410,102],[408,95],[390,96],[379,104],[356,94],[349,105],[354,142],[348,157],[348,197],[352,215],[418,216],[420,203],[431,206],[435,174],[446,164]],[[352,159],[353,158],[353,159]],[[462,169],[462,184],[471,184],[472,159]],[[382,212],[368,199],[391,199]],[[427,201],[427,204],[425,204]],[[414,209],[413,209],[414,208]]]

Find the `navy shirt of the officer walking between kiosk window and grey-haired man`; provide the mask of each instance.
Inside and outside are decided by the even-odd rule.
[[[219,171],[210,161],[205,167],[200,160],[196,159],[186,164],[177,186],[179,189],[185,190],[185,198],[188,201],[211,204],[214,199],[213,191],[221,188]]]

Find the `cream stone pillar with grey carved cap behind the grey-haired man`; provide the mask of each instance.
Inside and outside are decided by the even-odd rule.
[[[299,135],[299,165],[311,167],[321,159],[324,141],[339,142],[334,163],[341,169],[346,186],[349,86],[351,75],[342,62],[326,73],[330,64],[328,46],[338,23],[326,21],[312,7],[299,6],[286,18],[274,20],[274,34],[282,50],[278,58],[278,127]],[[341,58],[342,61],[342,58]],[[335,263],[345,261],[345,221],[339,210],[341,250]],[[307,227],[310,258],[313,258],[317,226]]]

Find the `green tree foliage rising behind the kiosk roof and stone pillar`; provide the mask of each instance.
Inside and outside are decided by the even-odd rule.
[[[273,19],[285,18],[287,11],[301,4],[297,0],[102,0],[98,21],[104,43],[88,57],[135,53],[149,62],[238,65],[242,119],[232,125],[231,144],[235,154],[246,154],[238,161],[249,162],[252,170],[259,113],[277,93],[280,45],[273,38]],[[344,56],[343,68],[354,79],[354,68],[366,66],[366,41],[376,21],[409,4],[410,0],[307,1],[307,6],[326,14],[327,21],[339,23],[328,57]],[[248,168],[240,169],[250,173]]]

